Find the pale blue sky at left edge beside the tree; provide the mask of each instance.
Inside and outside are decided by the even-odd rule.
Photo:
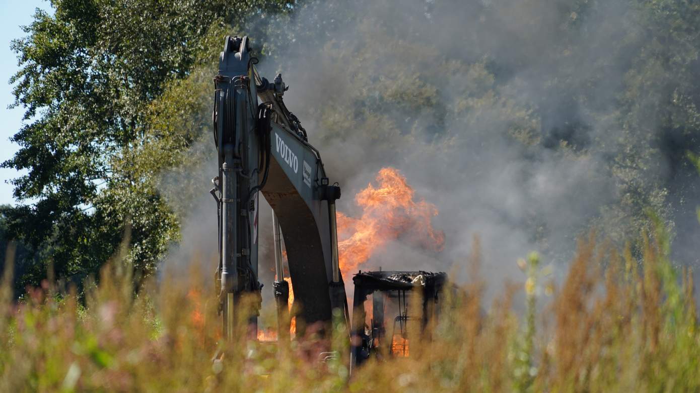
[[[51,7],[48,1],[42,0],[0,0],[0,161],[12,157],[18,150],[18,145],[9,138],[22,126],[24,114],[22,107],[8,109],[14,101],[8,81],[18,71],[17,55],[10,50],[10,41],[26,35],[21,26],[31,23],[36,8],[49,10]],[[15,170],[0,168],[0,205],[15,204],[8,180],[17,176]]]

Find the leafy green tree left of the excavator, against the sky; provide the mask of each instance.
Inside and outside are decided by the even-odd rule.
[[[211,57],[209,32],[220,43],[246,15],[288,12],[290,1],[56,0],[52,7],[53,14],[37,10],[28,36],[12,44],[21,68],[10,83],[25,126],[12,138],[18,153],[2,165],[27,170],[13,180],[14,196],[36,202],[3,207],[8,234],[50,250],[43,261],[52,260],[58,276],[85,276],[115,253],[128,224],[130,259],[150,274],[178,238],[155,175],[193,142],[150,132],[150,103]],[[170,158],[139,158],[158,149]]]

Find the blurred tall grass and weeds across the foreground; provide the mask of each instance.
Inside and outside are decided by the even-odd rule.
[[[700,391],[692,277],[671,265],[664,232],[643,242],[638,259],[581,240],[561,288],[532,254],[519,261],[524,285],[507,286],[490,305],[480,263],[476,252],[472,281],[445,294],[449,312],[430,325],[431,340],[410,339],[410,357],[370,359],[352,376],[345,356],[318,362],[306,341],[275,346],[241,334],[222,343],[214,296],[194,271],[187,283],[165,279],[134,295],[130,269],[116,258],[80,301],[45,283],[20,303],[7,272],[0,391]],[[512,308],[519,297],[524,313]]]

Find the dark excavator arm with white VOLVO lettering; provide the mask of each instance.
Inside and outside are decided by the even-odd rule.
[[[300,304],[297,334],[311,323],[325,327],[334,309],[348,319],[337,260],[335,200],[340,188],[330,184],[321,155],[284,105],[288,87],[281,75],[269,82],[258,75],[256,63],[247,37],[227,36],[214,78],[218,177],[211,193],[219,217],[216,276],[226,337],[233,334],[239,318],[248,318],[253,330],[257,326],[255,315],[235,313],[243,295],[260,295],[262,288],[258,282],[261,194],[272,207],[274,229],[281,230],[286,246],[295,302]],[[274,288],[278,297],[284,297],[281,255],[275,254]],[[286,307],[286,302],[278,304]]]

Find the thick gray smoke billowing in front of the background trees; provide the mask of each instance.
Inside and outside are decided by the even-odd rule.
[[[516,260],[529,251],[561,275],[575,239],[624,198],[610,162],[625,154],[615,105],[638,50],[620,44],[638,29],[627,4],[311,2],[257,19],[272,28],[253,39],[278,43],[258,69],[290,85],[286,104],[341,184],[341,212],[358,213],[353,196],[385,166],[440,211],[433,225],[446,234],[444,251],[397,239],[363,268],[442,270],[465,281],[479,235],[483,275],[498,292],[523,280]],[[646,170],[651,179],[668,168]],[[205,212],[183,220],[183,240],[215,239],[208,198]],[[268,221],[269,213],[263,247]],[[271,255],[261,251],[261,271]]]

